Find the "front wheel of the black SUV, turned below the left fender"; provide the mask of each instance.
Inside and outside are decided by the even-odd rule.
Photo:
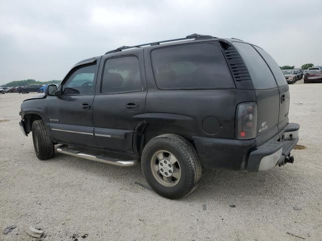
[[[45,123],[40,119],[32,124],[32,140],[36,156],[40,160],[52,158],[55,150],[54,144],[50,139]]]

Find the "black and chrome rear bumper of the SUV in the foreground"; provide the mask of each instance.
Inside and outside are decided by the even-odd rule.
[[[298,142],[299,127],[298,124],[289,123],[282,133],[250,152],[247,170],[265,171],[288,162],[291,150]]]

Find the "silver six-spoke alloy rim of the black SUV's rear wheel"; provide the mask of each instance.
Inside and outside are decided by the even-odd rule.
[[[159,150],[152,155],[151,172],[155,180],[165,187],[177,185],[181,178],[178,159],[171,152]]]

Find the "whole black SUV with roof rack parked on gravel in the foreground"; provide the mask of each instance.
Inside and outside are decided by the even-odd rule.
[[[57,152],[132,166],[158,194],[181,198],[203,168],[268,170],[293,162],[298,124],[273,58],[205,35],[120,47],[78,62],[60,86],[21,105],[40,160]],[[121,155],[122,154],[122,155]],[[126,154],[126,155],[123,155]]]

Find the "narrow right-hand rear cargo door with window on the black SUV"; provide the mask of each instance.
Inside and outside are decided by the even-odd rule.
[[[274,77],[276,79],[279,91],[280,91],[280,112],[278,118],[278,128],[283,129],[288,123],[288,110],[290,104],[290,92],[289,87],[284,77],[284,74],[276,61],[262,48],[254,46],[254,48],[264,58],[268,66],[270,67]]]

